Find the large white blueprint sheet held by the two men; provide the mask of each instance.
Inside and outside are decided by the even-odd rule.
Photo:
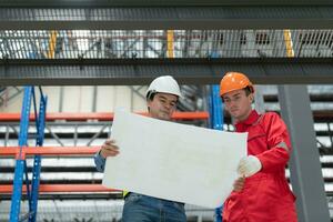
[[[103,185],[208,208],[221,205],[239,176],[248,133],[231,133],[115,111]]]

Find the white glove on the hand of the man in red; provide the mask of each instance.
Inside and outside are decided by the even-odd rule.
[[[239,174],[249,178],[259,172],[261,168],[261,162],[256,157],[248,155],[245,158],[242,158],[242,160],[240,161],[238,172]]]

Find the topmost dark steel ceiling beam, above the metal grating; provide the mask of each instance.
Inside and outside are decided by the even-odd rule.
[[[333,6],[0,8],[0,30],[285,28],[333,29]]]

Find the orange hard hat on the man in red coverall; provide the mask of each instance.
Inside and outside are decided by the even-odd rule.
[[[254,88],[249,78],[241,72],[226,72],[220,82],[220,95],[241,90],[249,87],[251,92],[254,92]]]

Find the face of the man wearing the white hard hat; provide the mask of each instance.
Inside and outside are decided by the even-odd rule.
[[[148,101],[149,113],[152,118],[160,120],[171,120],[175,110],[178,98],[174,94],[157,93],[153,100]]]

